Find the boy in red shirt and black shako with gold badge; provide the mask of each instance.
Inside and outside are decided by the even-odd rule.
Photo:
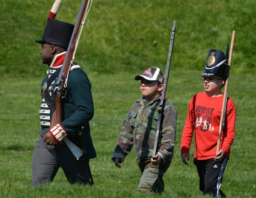
[[[227,62],[223,51],[208,52],[205,72],[201,74],[205,92],[197,93],[192,97],[181,137],[181,160],[188,165],[190,145],[195,132],[193,162],[197,166],[200,179],[199,189],[204,195],[219,197],[225,197],[220,187],[235,137],[236,108],[231,98],[228,98],[220,150],[216,156],[223,102],[221,88],[226,80]]]

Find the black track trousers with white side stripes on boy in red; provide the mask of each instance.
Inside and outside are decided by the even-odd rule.
[[[220,187],[227,161],[227,157],[224,157],[222,162],[215,162],[213,158],[207,160],[194,158],[193,162],[197,166],[199,176],[199,189],[204,195],[226,197]]]

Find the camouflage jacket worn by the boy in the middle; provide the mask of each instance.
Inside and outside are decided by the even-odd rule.
[[[144,107],[143,98],[137,100],[123,121],[123,128],[112,155],[114,158],[125,158],[133,144],[137,159],[150,159],[153,154],[155,134],[158,121],[160,96]],[[166,100],[163,115],[162,132],[158,154],[162,162],[171,161],[176,137],[177,111],[173,104]]]

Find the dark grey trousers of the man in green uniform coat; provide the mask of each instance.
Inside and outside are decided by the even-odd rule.
[[[32,185],[53,181],[60,167],[69,183],[90,183],[85,160],[77,160],[65,143],[48,146],[40,136],[32,157]]]

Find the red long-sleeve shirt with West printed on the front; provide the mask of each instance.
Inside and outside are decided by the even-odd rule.
[[[198,160],[215,157],[222,102],[223,95],[209,97],[206,92],[197,93],[192,97],[181,137],[181,154],[189,152],[195,131],[194,157]],[[228,98],[225,125],[220,142],[220,149],[227,157],[229,157],[230,147],[235,138],[235,117],[235,104],[231,98]]]

